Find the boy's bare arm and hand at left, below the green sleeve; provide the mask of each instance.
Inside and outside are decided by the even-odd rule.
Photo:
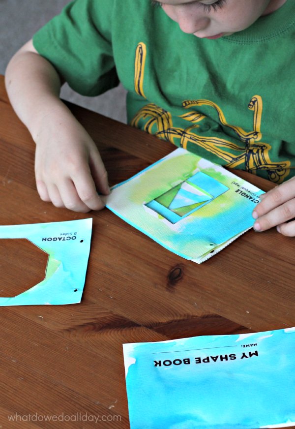
[[[96,145],[60,101],[59,74],[31,40],[10,60],[5,85],[36,143],[35,176],[41,199],[77,212],[103,208],[97,190],[108,194],[109,186]]]

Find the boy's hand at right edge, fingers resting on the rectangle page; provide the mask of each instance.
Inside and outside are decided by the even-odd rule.
[[[295,177],[261,195],[253,212],[254,229],[265,231],[273,226],[286,236],[295,237]]]

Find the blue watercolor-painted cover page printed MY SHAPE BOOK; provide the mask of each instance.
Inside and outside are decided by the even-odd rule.
[[[131,429],[295,426],[295,328],[123,351]]]

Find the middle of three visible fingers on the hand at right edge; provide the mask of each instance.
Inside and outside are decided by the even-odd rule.
[[[265,231],[273,226],[280,225],[295,217],[295,199],[287,201],[259,217],[253,225],[255,231]]]

